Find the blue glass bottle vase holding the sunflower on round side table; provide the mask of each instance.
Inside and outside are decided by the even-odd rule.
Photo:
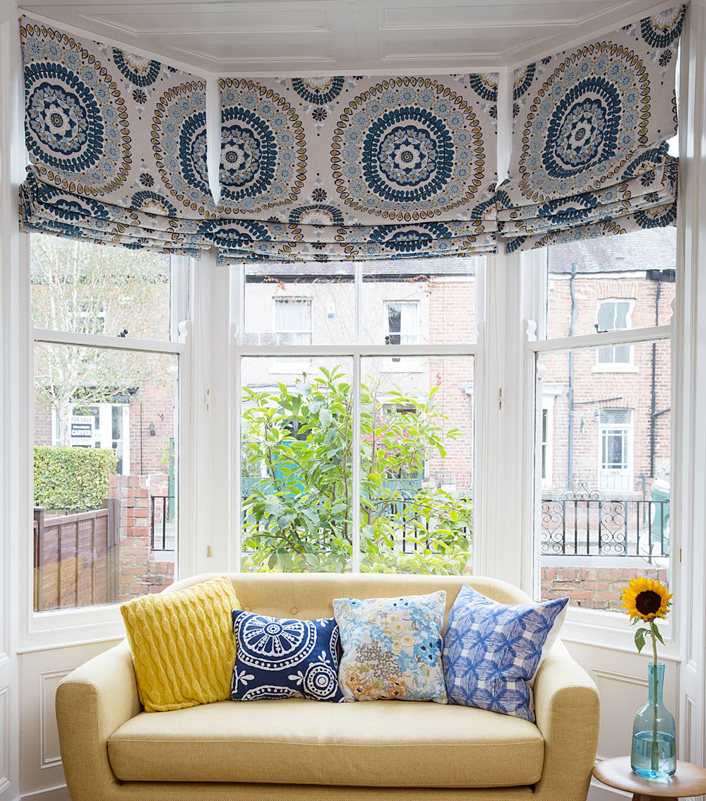
[[[632,726],[630,766],[647,779],[668,779],[676,772],[674,715],[662,703],[664,663],[648,665],[650,697]]]

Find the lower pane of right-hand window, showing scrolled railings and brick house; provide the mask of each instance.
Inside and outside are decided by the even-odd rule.
[[[670,345],[631,347],[618,374],[593,372],[593,348],[543,357],[542,598],[617,610],[631,578],[668,581]]]

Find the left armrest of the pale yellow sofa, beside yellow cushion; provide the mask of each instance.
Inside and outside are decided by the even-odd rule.
[[[59,682],[59,746],[66,785],[74,801],[98,801],[118,787],[120,782],[108,760],[108,739],[141,711],[126,640]]]

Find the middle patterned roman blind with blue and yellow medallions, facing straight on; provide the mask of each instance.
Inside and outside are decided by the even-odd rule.
[[[495,252],[497,74],[220,84],[222,260]]]

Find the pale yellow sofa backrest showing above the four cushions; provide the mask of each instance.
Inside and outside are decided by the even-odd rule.
[[[339,573],[208,573],[184,578],[162,595],[225,575],[238,594],[240,608],[273,618],[331,618],[334,598],[395,598],[446,591],[442,634],[451,606],[464,584],[499,603],[532,603],[517,587],[495,578]]]

